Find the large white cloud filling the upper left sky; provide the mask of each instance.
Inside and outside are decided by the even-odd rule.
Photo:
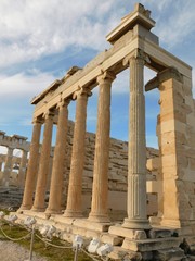
[[[1,0],[0,67],[36,60],[66,47],[100,49],[114,23],[114,0]],[[104,20],[103,20],[104,17]],[[104,34],[105,33],[105,34]]]

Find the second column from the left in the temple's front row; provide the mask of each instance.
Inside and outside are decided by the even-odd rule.
[[[39,171],[36,185],[35,201],[32,211],[44,211],[44,198],[47,190],[47,178],[50,172],[50,153],[51,153],[51,141],[53,130],[53,119],[54,114],[49,111],[44,114],[44,133],[41,148],[41,156],[39,162]]]

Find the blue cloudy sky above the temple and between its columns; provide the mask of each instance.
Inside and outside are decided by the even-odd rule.
[[[73,65],[84,66],[109,48],[105,36],[134,9],[134,0],[0,0],[0,130],[31,138],[30,100]],[[160,46],[195,67],[195,1],[142,0],[156,21]],[[193,72],[195,76],[195,73]],[[145,70],[145,80],[154,73]],[[112,96],[112,136],[128,140],[129,72]],[[119,87],[119,88],[118,88]],[[95,132],[98,91],[89,100]],[[147,145],[157,146],[158,91],[146,94]],[[69,119],[75,117],[75,103]]]

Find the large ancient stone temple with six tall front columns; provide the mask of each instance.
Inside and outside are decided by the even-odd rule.
[[[72,67],[62,79],[55,80],[31,102],[35,105],[34,130],[23,203],[18,210],[21,219],[32,215],[40,224],[55,224],[63,231],[64,239],[69,239],[69,234],[98,237],[116,246],[110,258],[117,260],[120,260],[117,254],[121,251],[140,253],[146,260],[159,260],[159,250],[167,251],[168,248],[184,254],[179,249],[183,238],[187,238],[190,245],[195,244],[192,67],[159,46],[158,37],[152,33],[154,26],[151,12],[142,4],[135,4],[134,11],[107,35],[106,40],[110,42],[108,50],[83,69]],[[145,86],[144,66],[156,72],[156,77]],[[108,211],[110,89],[117,75],[127,69],[130,72],[127,215],[115,225]],[[83,217],[87,105],[93,88],[99,88],[98,127],[90,212]],[[161,200],[158,215],[148,219],[144,89],[153,91],[155,88],[160,96],[157,123],[160,174],[156,190]],[[76,102],[76,119],[66,206],[62,209],[63,175],[69,153],[66,145],[70,102]],[[57,128],[56,144],[49,203],[46,206],[54,124]],[[39,158],[41,128],[43,140]],[[172,236],[176,234],[178,237]]]

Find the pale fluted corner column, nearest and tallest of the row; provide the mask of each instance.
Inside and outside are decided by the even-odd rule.
[[[128,149],[128,217],[123,227],[148,229],[146,215],[146,141],[144,55],[138,50],[130,62],[130,122]]]

